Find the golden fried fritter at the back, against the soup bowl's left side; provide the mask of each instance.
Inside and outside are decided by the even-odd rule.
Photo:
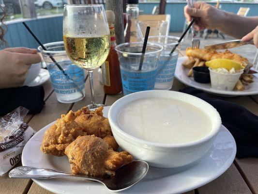
[[[103,116],[103,107],[90,111],[87,107],[78,110],[75,115],[75,121],[89,135],[95,135],[100,138],[112,135],[108,119]]]

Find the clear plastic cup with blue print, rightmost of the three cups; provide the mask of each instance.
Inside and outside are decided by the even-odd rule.
[[[156,90],[170,90],[172,88],[178,59],[178,50],[181,48],[183,40],[173,54],[171,56],[169,54],[174,46],[178,44],[179,39],[180,37],[175,36],[149,36],[148,38],[148,43],[160,44],[164,48],[158,62],[158,71],[154,87]]]

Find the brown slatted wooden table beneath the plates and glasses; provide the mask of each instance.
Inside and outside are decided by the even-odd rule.
[[[86,96],[83,100],[62,104],[57,101],[50,81],[44,85],[46,105],[41,113],[27,115],[25,122],[36,131],[56,120],[61,114],[69,110],[78,110],[91,101],[89,79],[86,79]],[[171,90],[178,91],[184,88],[178,80],[174,80]],[[94,91],[96,102],[111,105],[122,95],[109,96],[103,92],[103,87],[98,81],[98,75],[94,72]],[[215,97],[215,96],[214,96]],[[242,105],[252,113],[258,115],[258,95],[252,97],[217,97]],[[17,165],[21,165],[18,163]],[[202,187],[196,188],[187,194],[258,194],[258,158],[235,159],[229,169],[219,178]],[[51,194],[51,192],[38,186],[30,179],[11,179],[8,176],[0,177],[0,194]]]

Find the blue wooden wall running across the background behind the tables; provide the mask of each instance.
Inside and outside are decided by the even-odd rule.
[[[139,9],[144,10],[144,14],[151,14],[155,5],[158,3],[140,3]],[[171,15],[170,32],[182,32],[185,20],[183,7],[185,5],[186,3],[167,3],[166,14]],[[258,16],[258,4],[255,3],[221,3],[221,5],[222,10],[232,13],[237,13],[240,7],[250,7],[247,16]],[[30,20],[27,21],[27,24],[43,43],[62,40],[62,16]],[[10,47],[38,47],[37,42],[22,23],[9,24],[5,39],[9,42]]]

